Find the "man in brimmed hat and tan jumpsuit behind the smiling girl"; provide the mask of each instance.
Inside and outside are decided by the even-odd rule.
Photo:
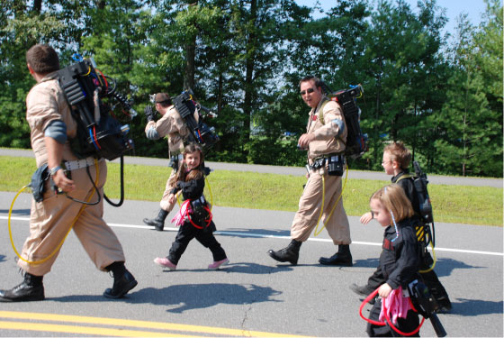
[[[175,105],[172,105],[171,97],[166,93],[157,93],[154,99],[156,104],[156,110],[162,117],[154,121],[154,112],[152,108],[148,106],[145,109],[145,114],[147,116],[147,125],[145,126],[145,134],[149,140],[158,140],[161,137],[168,137],[168,152],[170,159],[178,159],[178,155],[184,152],[184,140],[189,136],[189,129],[184,122],[182,116],[176,111]],[[194,114],[194,118],[198,121],[197,114]],[[178,160],[175,160],[175,168],[178,167]],[[172,186],[172,179],[175,176],[176,169],[172,169],[170,177],[166,181],[165,192],[159,203],[159,212],[156,218],[148,219],[144,218],[143,222],[145,224],[154,226],[156,230],[163,231],[165,227],[166,216],[172,211],[175,206],[176,199],[170,203],[169,196],[170,192],[174,188]]]

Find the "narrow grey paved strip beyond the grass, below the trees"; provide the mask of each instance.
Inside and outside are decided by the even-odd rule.
[[[18,157],[33,157],[31,150],[16,150],[0,148],[0,156],[18,156]],[[119,162],[114,160],[113,162]],[[167,166],[166,159],[144,158],[125,156],[125,164],[140,164],[148,166]],[[220,163],[220,162],[206,162],[207,166],[214,170],[235,170],[235,171],[253,171],[260,173],[271,173],[281,175],[294,175],[304,176],[306,170],[300,167],[280,167],[280,166],[266,166],[257,164],[242,164],[242,163]],[[390,176],[384,172],[377,171],[363,171],[352,170],[348,172],[348,178],[363,178],[363,179],[379,179],[383,181],[390,181]],[[428,180],[431,184],[446,184],[446,185],[459,185],[459,186],[475,186],[475,187],[503,187],[502,178],[462,178],[452,176],[428,175]]]

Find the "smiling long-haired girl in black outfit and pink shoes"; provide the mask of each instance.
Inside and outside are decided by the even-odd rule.
[[[211,212],[204,199],[204,162],[203,153],[197,144],[189,144],[184,149],[184,160],[175,175],[176,185],[170,195],[170,203],[175,201],[175,195],[182,190],[184,204],[172,222],[180,225],[175,242],[167,257],[157,257],[154,262],[165,268],[175,270],[178,260],[193,238],[213,255],[213,262],[208,269],[219,269],[229,262],[226,252],[220,247],[213,236],[215,224],[211,221]]]

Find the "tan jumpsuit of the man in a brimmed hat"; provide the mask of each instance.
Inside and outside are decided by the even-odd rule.
[[[196,118],[196,121],[198,121],[197,117],[194,117]],[[184,152],[184,138],[189,134],[189,130],[187,129],[182,116],[176,111],[175,105],[169,106],[166,114],[157,120],[157,122],[149,121],[147,123],[145,126],[146,135],[148,134],[148,130],[152,128],[156,130],[159,137],[168,136],[169,157],[176,156]],[[172,170],[170,177],[166,180],[165,192],[163,193],[161,202],[159,202],[161,209],[168,213],[172,211],[176,203],[176,199],[171,204],[168,202],[168,196],[170,196],[170,192],[174,188],[171,184],[171,180],[174,176],[175,170]]]

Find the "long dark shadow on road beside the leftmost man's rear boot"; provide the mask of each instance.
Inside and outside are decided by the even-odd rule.
[[[238,284],[184,284],[168,288],[143,288],[130,294],[127,303],[168,306],[166,312],[184,311],[217,306],[219,304],[247,305],[259,302],[278,302],[271,299],[282,292],[269,287]]]

